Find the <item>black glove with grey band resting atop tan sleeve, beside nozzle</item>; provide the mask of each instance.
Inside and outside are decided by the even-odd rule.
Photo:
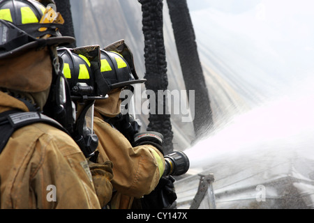
[[[133,146],[141,146],[141,145],[152,145],[160,151],[160,153],[163,153],[163,134],[160,134],[159,132],[139,132],[134,135],[134,143]]]

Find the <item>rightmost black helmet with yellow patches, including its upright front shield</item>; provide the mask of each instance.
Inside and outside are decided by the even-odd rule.
[[[119,40],[100,49],[100,71],[111,89],[123,88],[131,84],[141,84],[146,79],[137,77],[130,49]]]

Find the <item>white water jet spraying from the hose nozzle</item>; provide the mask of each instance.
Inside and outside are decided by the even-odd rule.
[[[185,151],[190,168],[209,166],[218,155],[232,156],[264,148],[314,147],[314,90],[311,79],[294,91],[244,114],[216,129]],[[314,153],[314,150],[313,150]]]

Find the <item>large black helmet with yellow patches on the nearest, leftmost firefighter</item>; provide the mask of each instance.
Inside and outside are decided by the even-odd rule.
[[[63,22],[51,6],[38,1],[0,1],[0,59],[27,49],[73,43],[75,38],[59,33]]]

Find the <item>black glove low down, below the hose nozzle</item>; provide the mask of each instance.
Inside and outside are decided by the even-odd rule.
[[[144,195],[141,199],[143,209],[163,209],[169,208],[177,199],[174,190],[174,178],[172,176],[162,176],[155,190]]]

